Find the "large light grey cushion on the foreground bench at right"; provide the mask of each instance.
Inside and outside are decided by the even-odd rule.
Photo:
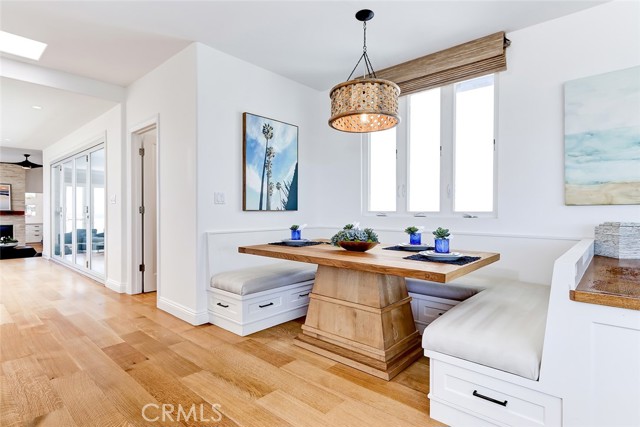
[[[422,346],[537,381],[549,290],[515,282],[482,291],[427,326]]]

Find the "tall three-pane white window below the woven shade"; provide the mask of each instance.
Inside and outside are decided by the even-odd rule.
[[[493,214],[493,74],[402,97],[403,122],[369,134],[367,210]]]

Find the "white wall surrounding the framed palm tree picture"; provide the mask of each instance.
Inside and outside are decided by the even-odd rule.
[[[280,228],[311,223],[321,165],[313,159],[323,141],[320,93],[225,53],[198,44],[198,309],[206,310],[207,245],[205,232]],[[242,113],[249,112],[298,126],[299,204],[295,212],[242,211]],[[214,192],[226,203],[214,204]],[[276,233],[277,234],[277,233]],[[238,234],[241,242],[242,234]],[[245,236],[246,237],[246,236]],[[235,245],[237,247],[238,244]],[[246,263],[259,263],[245,255]]]

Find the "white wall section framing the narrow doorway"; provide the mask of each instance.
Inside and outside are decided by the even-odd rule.
[[[206,313],[198,312],[196,294],[196,53],[195,44],[188,46],[127,88],[126,153],[130,172],[131,130],[158,118],[158,306],[201,323],[198,316]],[[130,229],[134,215],[127,213]],[[134,243],[130,236],[132,275],[138,274],[132,265]]]

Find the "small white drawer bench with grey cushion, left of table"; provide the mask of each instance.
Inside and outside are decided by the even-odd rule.
[[[209,322],[245,336],[307,313],[316,266],[282,262],[215,274]]]

